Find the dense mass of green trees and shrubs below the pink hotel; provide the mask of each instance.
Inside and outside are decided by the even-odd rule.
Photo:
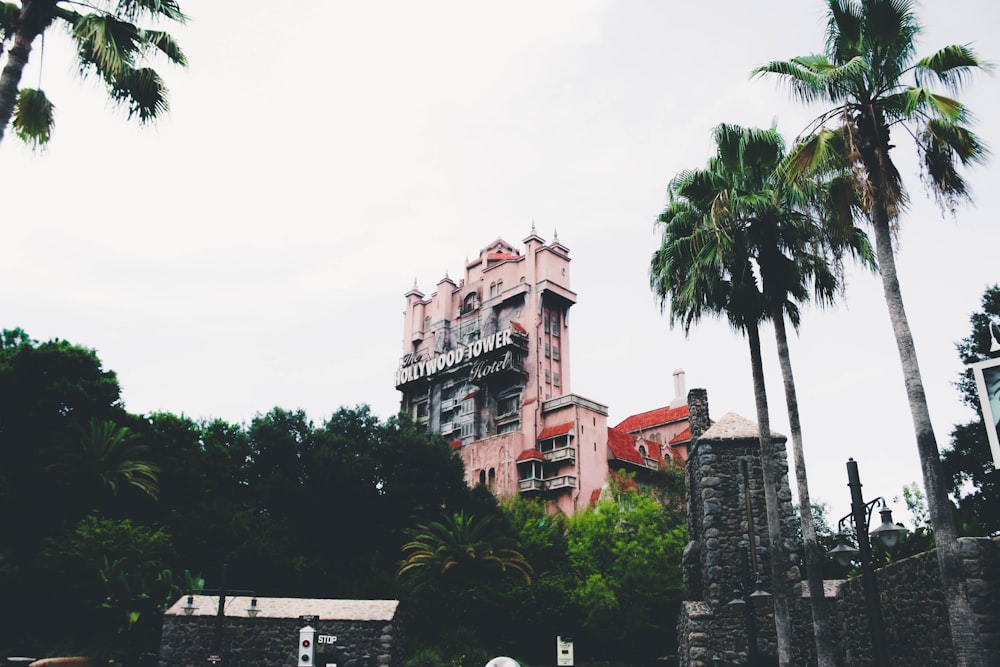
[[[130,414],[93,350],[4,331],[0,655],[155,664],[162,611],[228,564],[260,596],[401,600],[412,665],[551,663],[559,634],[645,664],[673,647],[687,537],[677,471],[623,479],[571,519],[500,505],[405,417]]]

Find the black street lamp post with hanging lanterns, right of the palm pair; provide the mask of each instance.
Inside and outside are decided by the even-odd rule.
[[[837,546],[828,553],[837,559],[841,565],[848,565],[852,560],[861,562],[861,586],[865,594],[865,607],[868,611],[868,630],[871,633],[874,664],[876,667],[889,666],[889,649],[885,642],[885,628],[882,620],[882,603],[879,600],[878,584],[875,581],[875,566],[872,564],[871,537],[878,536],[888,548],[899,543],[899,536],[906,528],[892,522],[892,510],[885,498],[879,496],[875,500],[865,502],[861,495],[861,476],[858,474],[858,463],[854,459],[847,460],[847,486],[851,489],[851,513],[837,522]],[[871,523],[872,510],[881,507],[879,515],[882,523],[875,530],[868,532]],[[847,522],[854,526],[857,548],[850,545],[845,529]]]

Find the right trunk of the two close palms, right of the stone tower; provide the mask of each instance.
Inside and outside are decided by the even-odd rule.
[[[778,309],[771,319],[774,322],[774,337],[778,343],[778,360],[781,362],[785,403],[788,406],[788,422],[792,432],[792,458],[795,465],[796,492],[799,497],[799,517],[802,521],[802,541],[805,546],[809,606],[812,609],[813,635],[816,638],[816,661],[819,667],[834,667],[836,661],[831,640],[830,610],[823,590],[823,556],[816,541],[816,525],[813,523],[812,504],[809,500],[806,458],[802,449],[802,427],[799,422],[799,401],[795,394],[792,360],[788,354],[784,311]]]

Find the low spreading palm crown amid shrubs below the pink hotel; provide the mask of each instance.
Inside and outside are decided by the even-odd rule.
[[[514,574],[531,583],[531,565],[496,529],[492,516],[457,512],[420,525],[403,545],[405,559],[396,576],[423,573],[442,583],[466,582],[494,573]]]

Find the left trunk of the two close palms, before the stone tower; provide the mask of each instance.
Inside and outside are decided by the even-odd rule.
[[[781,536],[781,513],[778,508],[778,475],[774,445],[771,442],[771,419],[764,387],[764,364],[760,355],[760,331],[757,323],[747,324],[750,364],[753,368],[753,393],[760,432],[760,468],[764,478],[764,506],[767,513],[768,554],[771,564],[771,594],[774,600],[774,629],[778,640],[778,665],[792,664],[792,623],[788,611],[784,543]],[[753,545],[751,545],[751,548]]]

